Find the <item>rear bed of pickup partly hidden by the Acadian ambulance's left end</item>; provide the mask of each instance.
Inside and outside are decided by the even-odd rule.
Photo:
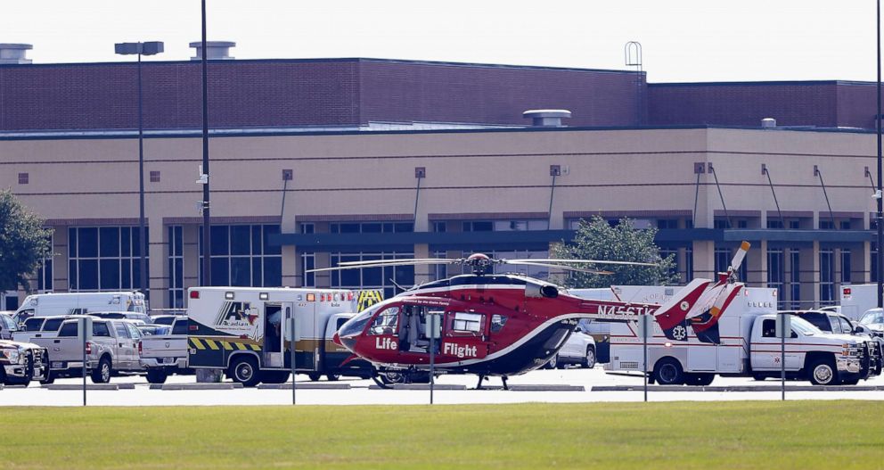
[[[138,343],[141,366],[147,381],[165,383],[169,375],[187,370],[187,317],[176,317],[169,334],[144,336]]]

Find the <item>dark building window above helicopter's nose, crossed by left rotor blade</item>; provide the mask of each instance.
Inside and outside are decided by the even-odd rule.
[[[412,252],[333,252],[331,268],[345,261],[397,260],[413,258]],[[389,268],[342,269],[330,271],[331,287],[348,289],[381,289],[388,299],[397,293],[396,284],[405,288],[414,284],[413,266],[391,266]]]

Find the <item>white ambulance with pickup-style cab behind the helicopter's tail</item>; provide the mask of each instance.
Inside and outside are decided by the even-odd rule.
[[[667,287],[624,288],[626,299],[666,300]],[[677,289],[675,289],[677,292]],[[634,296],[628,296],[628,293]],[[620,297],[621,300],[626,300]],[[648,340],[648,362],[643,363],[643,340],[634,323],[610,324],[609,371],[635,371],[651,374],[651,382],[660,384],[708,385],[715,375],[753,376],[757,379],[780,376],[781,339],[776,337],[776,290],[747,288],[716,313],[716,331],[696,334],[687,320],[683,341],[667,338],[656,321]],[[702,318],[708,324],[708,312]],[[872,355],[874,348],[866,340],[847,334],[826,334],[806,320],[791,317],[791,334],[786,339],[787,376],[803,378],[814,384],[857,383],[877,375]]]

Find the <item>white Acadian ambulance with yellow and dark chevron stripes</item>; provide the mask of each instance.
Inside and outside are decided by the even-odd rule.
[[[187,366],[224,370],[234,382],[284,383],[291,375],[289,318],[295,318],[295,365],[317,380],[326,375],[372,377],[363,359],[332,342],[377,291],[287,287],[192,287],[187,294]],[[366,301],[368,299],[369,301]]]

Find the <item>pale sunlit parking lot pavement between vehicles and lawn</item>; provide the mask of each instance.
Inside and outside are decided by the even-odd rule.
[[[143,376],[113,377],[118,390],[88,390],[90,406],[204,406],[204,405],[291,405],[291,382],[282,386],[207,390],[195,383],[193,375],[169,377],[165,387],[152,386]],[[228,382],[229,383],[229,382]],[[642,401],[643,380],[640,375],[608,374],[602,367],[594,369],[536,370],[510,378],[512,390],[501,390],[499,377],[485,382],[487,390],[475,390],[475,375],[442,375],[434,392],[438,404],[520,403],[520,402],[613,402]],[[83,394],[80,378],[59,379],[63,387],[41,387],[31,383],[28,388],[5,387],[0,390],[0,406],[79,406]],[[87,381],[87,384],[92,384]],[[233,383],[229,383],[233,385]],[[786,383],[786,400],[884,400],[884,377],[860,382],[855,387],[811,387],[806,381]],[[300,388],[299,388],[300,387]],[[649,401],[716,401],[716,400],[780,400],[780,382],[762,382],[746,377],[716,377],[708,387],[651,386]],[[215,387],[212,387],[215,388]],[[59,390],[61,389],[61,390]],[[430,391],[426,386],[379,389],[372,380],[341,378],[339,382],[310,382],[298,375],[296,401],[299,405],[397,405],[427,404]]]

